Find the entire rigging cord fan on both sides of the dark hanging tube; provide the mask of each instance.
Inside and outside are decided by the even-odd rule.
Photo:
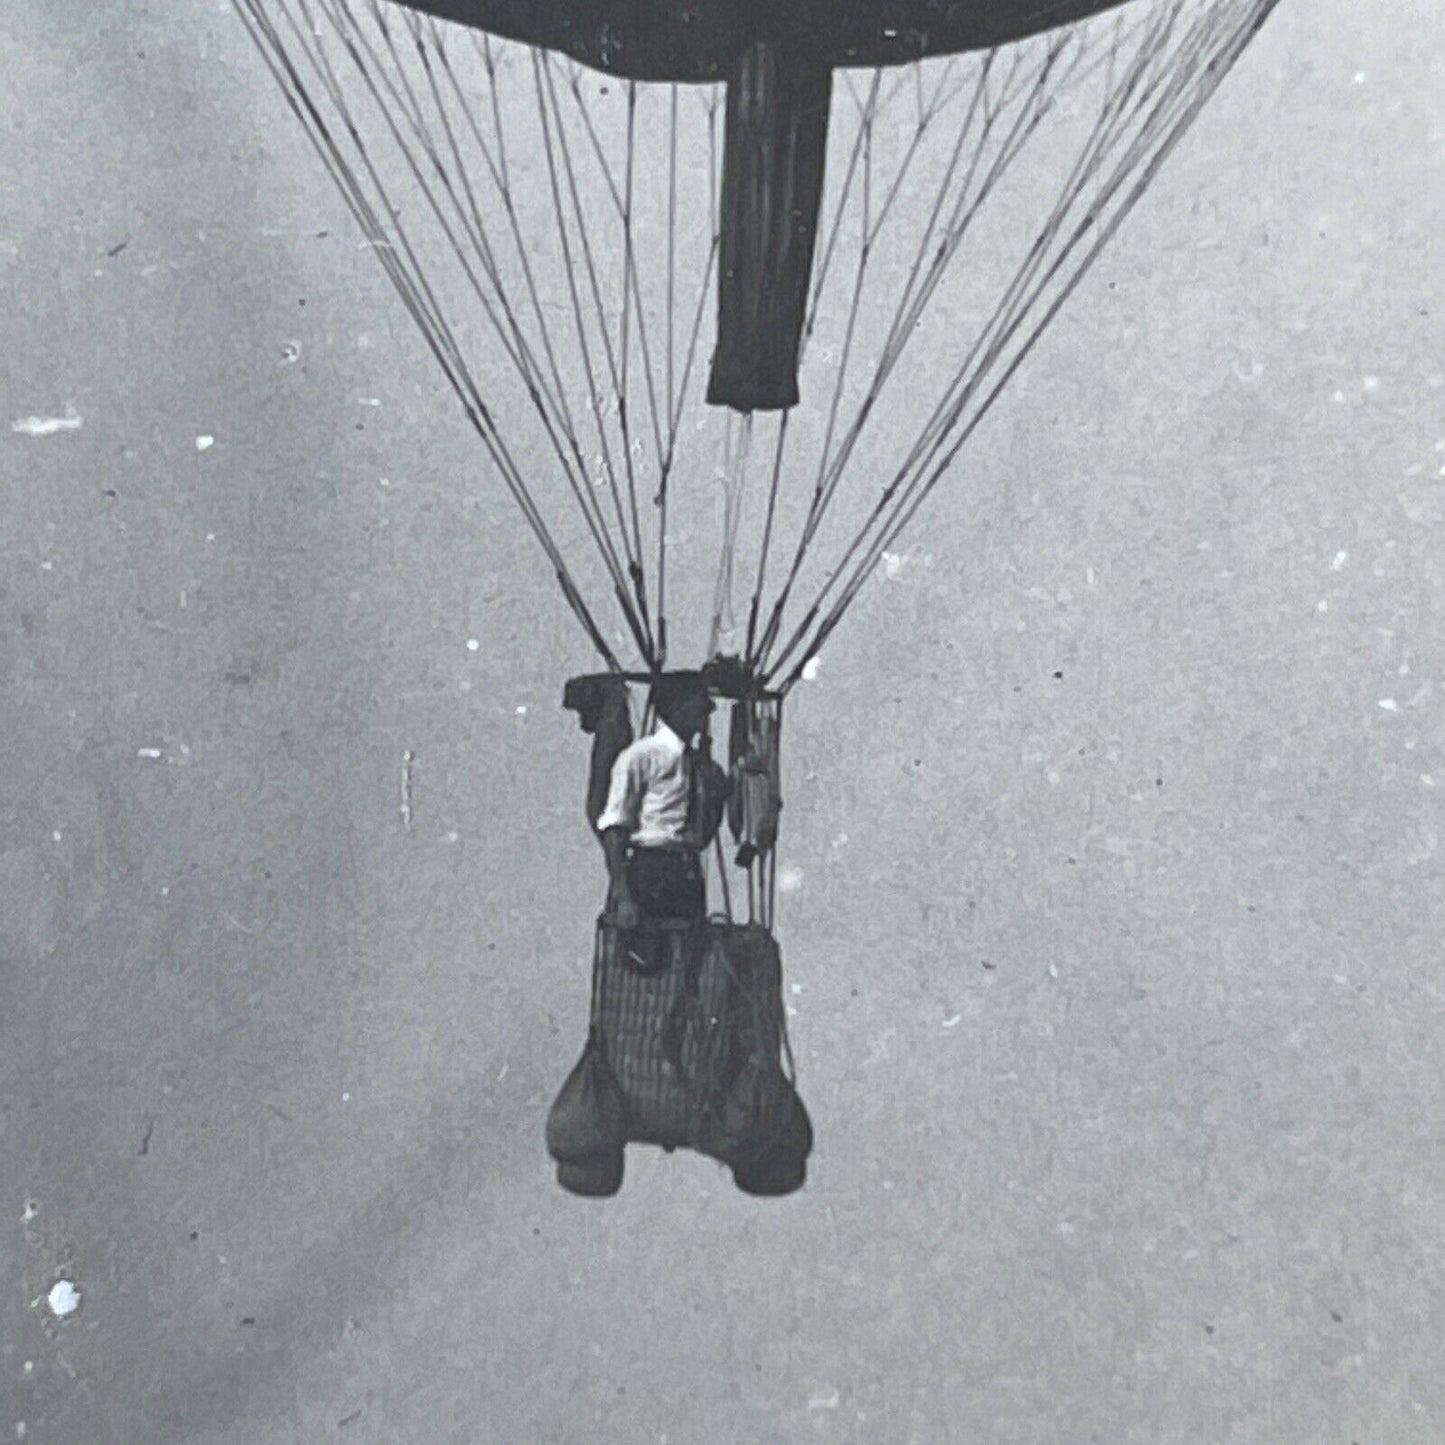
[[[838,72],[838,179],[801,337],[806,389],[824,400],[796,419],[728,413],[709,653],[733,626],[756,513],[741,662],[760,685],[796,683],[1276,3],[1134,0],[997,51]],[[702,473],[695,432],[717,428],[707,410],[694,426],[689,406],[718,282],[721,88],[618,81],[390,0],[233,6],[592,646],[618,670],[614,639],[630,637],[660,670],[669,522],[679,483]],[[1085,104],[1072,153],[1048,149],[1045,123]],[[665,165],[643,162],[643,134]],[[1022,257],[958,360],[910,374],[913,337],[959,259],[996,259],[984,218],[1014,224],[1009,186],[1033,152],[1053,189],[1027,176],[1039,204]],[[682,155],[696,158],[685,172]],[[707,189],[705,205],[688,186]],[[458,267],[451,290],[444,262]],[[477,332],[491,345],[478,350]],[[883,416],[907,441],[880,477]],[[793,491],[798,473],[808,481]],[[688,490],[701,501],[711,488]],[[579,562],[607,579],[611,637]]]

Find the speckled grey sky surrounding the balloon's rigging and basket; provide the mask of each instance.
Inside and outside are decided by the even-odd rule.
[[[4,1438],[1445,1439],[1442,65],[1269,25],[795,698],[806,1191],[594,1205],[585,652],[230,7],[12,0]]]

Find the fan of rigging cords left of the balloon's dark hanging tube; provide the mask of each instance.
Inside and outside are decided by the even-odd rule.
[[[629,87],[624,127],[621,185],[613,175],[604,137],[582,98],[582,68],[571,62],[571,94],[585,127],[578,143],[564,111],[561,88],[549,56],[533,55],[533,91],[539,136],[535,153],[546,155],[548,179],[530,192],[519,194],[509,159],[509,124],[517,120],[514,101],[503,103],[516,55],[496,46],[487,35],[460,32],[413,10],[381,0],[233,0],[267,69],[296,114],[311,144],[337,185],[363,236],[381,262],[409,315],[442,367],[442,374],[462,402],[517,504],[564,598],[577,613],[608,668],[620,666],[613,644],[587,603],[575,572],[572,542],[558,530],[545,506],[535,462],[523,438],[503,436],[516,429],[516,409],[499,399],[483,400],[480,376],[497,383],[501,376],[487,366],[487,354],[471,355],[475,338],[455,309],[455,283],[438,276],[436,247],[457,263],[457,280],[464,301],[475,306],[496,344],[493,358],[510,364],[520,380],[529,409],[540,423],[545,445],[561,474],[565,494],[575,503],[592,552],[610,579],[621,620],[649,669],[663,663],[666,575],[668,481],[676,464],[688,390],[695,383],[707,296],[712,286],[718,234],[714,225],[707,244],[701,277],[679,275],[678,225],[682,210],[676,195],[678,150],[685,143],[686,121],[708,134],[715,152],[717,92],[707,92],[699,111],[683,116],[676,90],[669,97],[670,126],[666,136],[669,173],[673,178],[668,207],[669,292],[665,324],[666,377],[659,376],[657,347],[650,335],[646,298],[639,267],[637,217],[633,207],[637,159],[639,91]],[[471,51],[458,53],[448,36],[467,33]],[[470,61],[470,66],[461,62]],[[465,72],[465,74],[464,74]],[[468,94],[470,91],[470,94]],[[481,105],[475,101],[481,101]],[[490,134],[483,123],[490,111]],[[575,117],[574,117],[575,118]],[[384,152],[384,155],[381,155]],[[595,165],[604,192],[584,185],[581,166]],[[483,189],[488,195],[483,195]],[[621,236],[620,306],[610,308],[600,267],[603,256],[592,244],[607,215],[594,205],[603,195],[603,212],[610,197],[616,208],[616,230]],[[571,335],[565,353],[558,345],[558,301],[564,288],[543,286],[538,260],[548,247],[538,246],[536,201],[552,201],[552,241],[565,259],[571,301]],[[493,204],[500,202],[500,204]],[[526,207],[526,217],[523,214]],[[428,234],[413,234],[426,223]],[[422,244],[422,241],[426,244]],[[509,254],[503,254],[510,249]],[[510,272],[510,275],[509,275]],[[689,295],[696,285],[695,298]],[[611,318],[608,311],[611,309]],[[678,321],[682,319],[679,337]],[[689,319],[691,318],[691,324]],[[571,366],[564,364],[564,354]],[[630,368],[637,363],[637,381]],[[585,386],[569,381],[569,370],[585,373]],[[666,392],[660,387],[666,384]],[[650,423],[653,457],[646,458],[636,435],[629,406],[630,393],[642,390]],[[588,465],[574,413],[574,393],[588,399],[595,425],[597,457]],[[516,449],[523,441],[523,451]],[[652,493],[656,512],[656,613],[649,601],[644,565],[649,542],[642,526],[642,473],[656,467]],[[530,475],[529,475],[530,473]],[[548,488],[551,490],[551,488]],[[611,519],[603,507],[610,500]]]

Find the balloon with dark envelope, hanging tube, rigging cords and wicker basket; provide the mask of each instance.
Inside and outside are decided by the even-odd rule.
[[[233,3],[601,660],[588,815],[681,634],[731,709],[717,906],[598,919],[559,1178],[796,1189],[785,699],[1277,0]]]

